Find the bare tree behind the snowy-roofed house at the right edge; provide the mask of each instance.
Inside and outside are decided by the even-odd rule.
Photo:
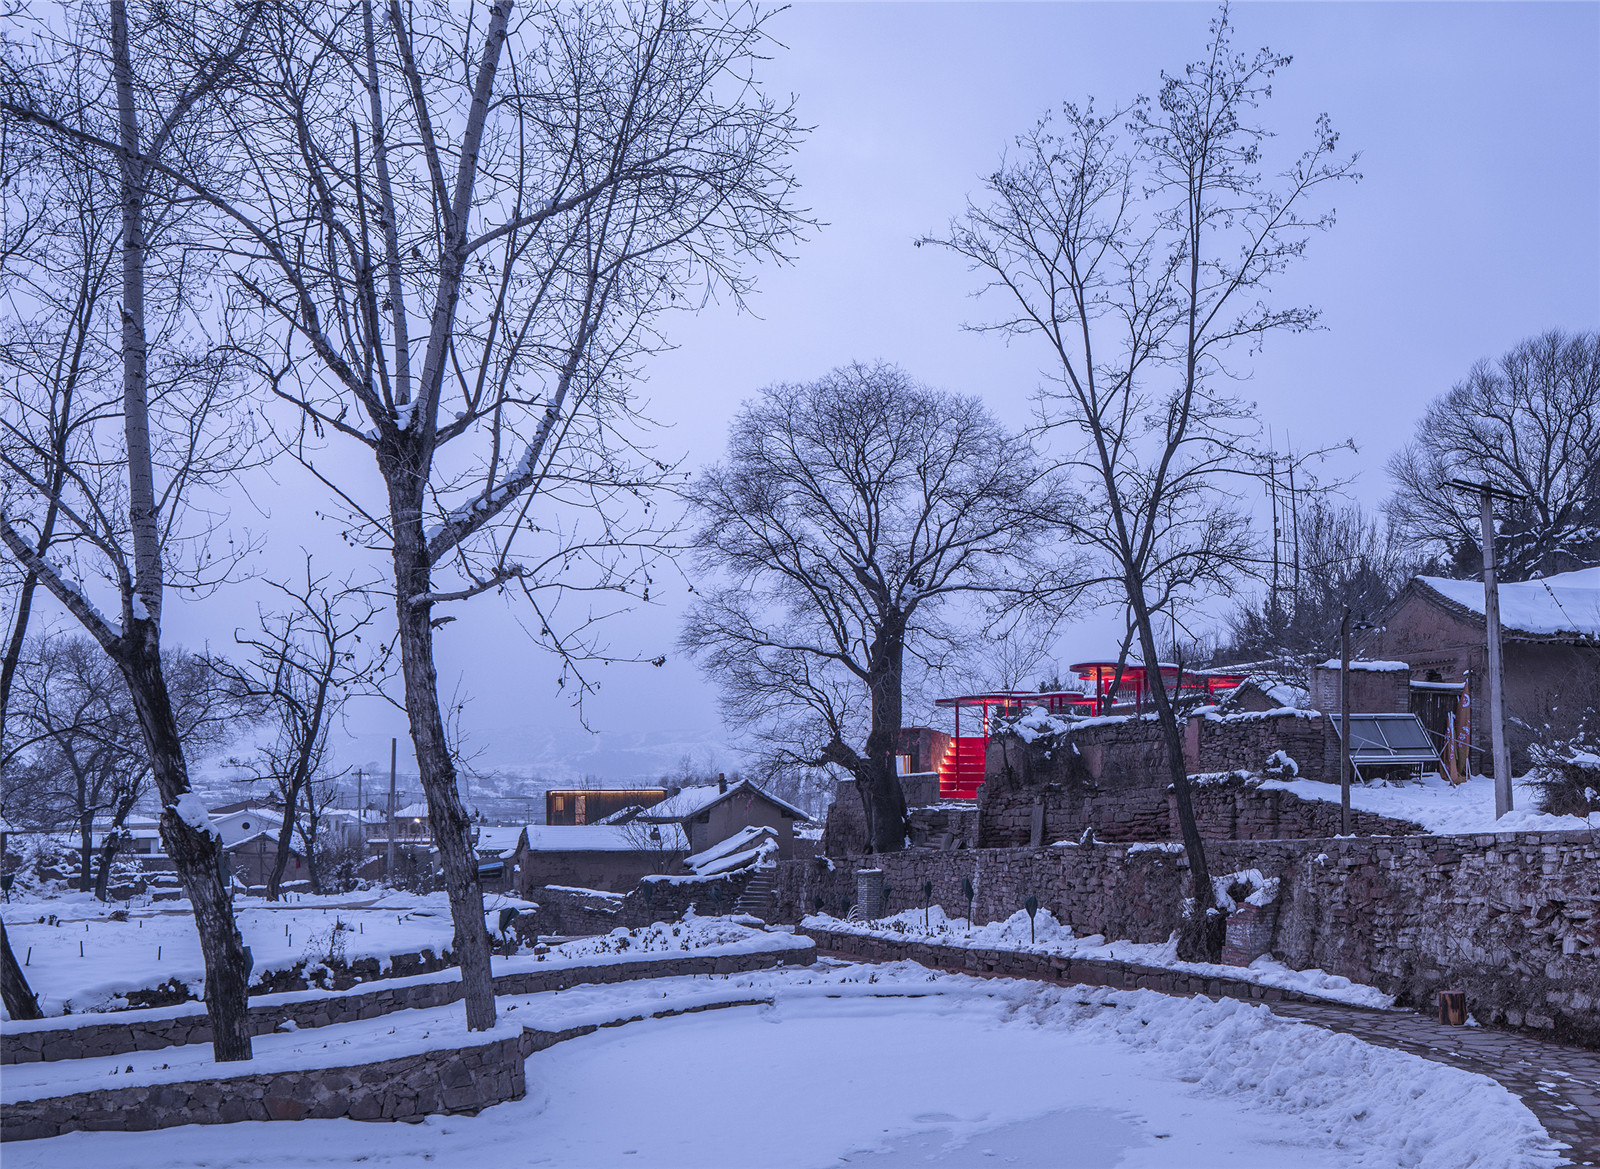
[[[1389,475],[1395,533],[1456,574],[1483,569],[1482,528],[1475,497],[1448,480],[1522,496],[1499,525],[1502,579],[1600,565],[1600,333],[1550,329],[1474,365],[1427,408]]]

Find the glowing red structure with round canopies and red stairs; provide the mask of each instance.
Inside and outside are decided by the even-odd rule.
[[[1174,699],[1216,697],[1238,686],[1248,675],[1222,670],[1184,670],[1162,662],[1160,675],[1166,692]],[[1078,662],[1072,667],[1093,691],[995,691],[990,694],[962,694],[938,699],[934,705],[955,712],[955,736],[949,750],[939,760],[939,798],[976,800],[984,782],[984,752],[989,748],[992,720],[1014,718],[1032,707],[1043,707],[1050,715],[1075,715],[1086,718],[1107,713],[1138,713],[1150,697],[1147,673],[1142,665],[1117,662]],[[968,734],[962,734],[962,710],[968,713]],[[978,731],[978,734],[973,734]]]

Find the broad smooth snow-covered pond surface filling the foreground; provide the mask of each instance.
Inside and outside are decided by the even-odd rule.
[[[970,979],[910,963],[829,963],[576,987],[501,999],[501,1015],[507,1023],[568,1027],[718,998],[771,1003],[635,1022],[557,1044],[528,1060],[526,1099],[477,1116],[414,1126],[294,1121],[77,1132],[11,1143],[5,1163],[6,1169],[1534,1169],[1562,1163],[1533,1115],[1491,1079],[1237,1001]],[[402,1014],[419,1019],[374,1022],[410,1031],[432,1012]]]

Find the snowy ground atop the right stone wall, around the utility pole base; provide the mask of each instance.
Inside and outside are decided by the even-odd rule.
[[[1523,784],[1512,785],[1512,811],[1494,819],[1494,780],[1474,776],[1451,787],[1440,776],[1427,776],[1421,784],[1365,784],[1350,785],[1350,808],[1366,812],[1394,816],[1400,820],[1421,824],[1429,832],[1442,835],[1474,832],[1574,832],[1600,828],[1600,812],[1582,816],[1549,816],[1536,812],[1538,788]],[[1293,792],[1302,800],[1328,800],[1339,803],[1338,784],[1320,784],[1314,779],[1269,779],[1261,788]]]

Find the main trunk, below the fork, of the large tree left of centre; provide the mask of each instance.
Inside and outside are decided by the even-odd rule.
[[[490,974],[490,934],[483,923],[483,891],[478,888],[477,857],[472,852],[470,824],[456,788],[456,764],[450,758],[445,721],[438,710],[438,673],[434,668],[430,571],[422,539],[422,491],[426,477],[411,473],[403,462],[384,467],[389,480],[390,523],[395,549],[395,617],[400,625],[400,668],[405,676],[405,708],[416,750],[418,777],[427,798],[443,868],[450,916],[456,928],[453,950],[461,966],[461,991],[467,1009],[467,1030],[494,1027],[494,982]]]

